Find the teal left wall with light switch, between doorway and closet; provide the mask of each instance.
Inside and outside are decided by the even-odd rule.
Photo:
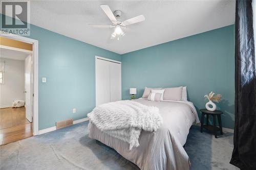
[[[39,130],[87,117],[95,107],[95,56],[121,61],[121,55],[34,25],[27,37],[39,44]]]

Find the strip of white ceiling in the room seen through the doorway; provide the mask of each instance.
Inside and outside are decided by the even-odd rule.
[[[9,50],[5,48],[0,48],[0,58],[7,58],[7,59],[13,59],[13,60],[25,60],[26,57],[29,56],[29,54],[24,52],[18,52],[15,50]]]

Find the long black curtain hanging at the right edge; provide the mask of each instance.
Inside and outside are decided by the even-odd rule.
[[[235,126],[230,163],[256,169],[256,76],[252,1],[236,1]]]

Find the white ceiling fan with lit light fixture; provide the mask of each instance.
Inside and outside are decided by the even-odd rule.
[[[114,31],[111,34],[111,39],[117,38],[117,40],[119,40],[119,37],[125,35],[124,29],[126,28],[126,26],[145,20],[145,17],[143,15],[139,15],[139,16],[120,22],[118,20],[122,14],[121,11],[116,10],[114,11],[114,13],[112,13],[108,5],[100,5],[100,8],[105,12],[106,16],[110,18],[112,24],[111,25],[90,25],[90,26],[94,28],[113,28]]]

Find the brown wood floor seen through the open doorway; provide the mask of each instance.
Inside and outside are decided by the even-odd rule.
[[[0,145],[33,136],[25,107],[0,109]]]

